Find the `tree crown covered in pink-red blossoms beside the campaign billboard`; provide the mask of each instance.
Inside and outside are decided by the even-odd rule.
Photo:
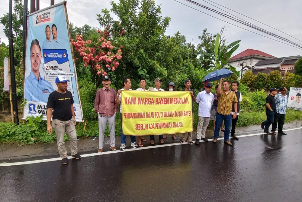
[[[76,53],[82,57],[85,67],[90,67],[92,81],[98,88],[101,85],[102,76],[114,71],[120,64],[123,46],[114,46],[109,40],[109,32],[106,27],[104,31],[96,30],[88,40],[83,40],[82,35],[76,35],[72,40]],[[116,42],[116,44],[118,44]],[[76,58],[79,60],[79,58]]]

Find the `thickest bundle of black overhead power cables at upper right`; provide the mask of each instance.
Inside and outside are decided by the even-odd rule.
[[[296,44],[296,43],[294,43],[294,42],[292,42],[292,41],[290,41],[290,40],[288,40],[288,39],[286,39],[286,38],[283,38],[283,37],[281,37],[281,36],[278,36],[278,35],[276,35],[276,34],[274,34],[274,33],[271,33],[271,32],[269,32],[269,31],[266,31],[266,30],[264,30],[264,29],[262,29],[262,28],[258,28],[257,26],[255,26],[255,25],[253,25],[253,24],[251,24],[251,23],[249,23],[249,22],[248,22],[248,23],[243,22],[243,21],[240,20],[240,19],[233,18],[233,17],[231,17],[231,16],[229,16],[229,15],[227,15],[227,14],[225,14],[225,13],[221,13],[221,12],[219,12],[219,11],[213,9],[213,8],[209,8],[209,7],[207,7],[207,6],[201,5],[201,4],[199,4],[199,3],[197,3],[197,2],[194,2],[194,1],[192,1],[192,0],[184,0],[184,1],[189,2],[189,3],[191,3],[191,4],[194,4],[194,5],[197,5],[197,6],[201,7],[201,8],[204,8],[204,9],[206,9],[206,10],[209,10],[210,12],[214,12],[214,13],[216,13],[216,14],[218,14],[218,15],[223,16],[223,17],[229,18],[230,20],[233,20],[233,21],[235,21],[235,22],[238,22],[238,23],[240,23],[240,24],[242,24],[242,25],[246,25],[246,26],[248,26],[248,27],[250,27],[250,28],[253,28],[253,29],[256,29],[256,30],[258,30],[258,31],[261,31],[261,32],[263,32],[263,33],[265,33],[265,34],[268,34],[268,35],[274,36],[274,37],[276,37],[276,38],[279,38],[279,39],[281,39],[282,41],[286,41],[286,42],[288,42],[288,43],[290,43],[290,44],[292,44],[292,45],[294,45],[294,46],[297,46],[297,47],[299,47],[299,48],[302,48],[302,46],[300,46],[300,45],[298,45],[298,44]]]

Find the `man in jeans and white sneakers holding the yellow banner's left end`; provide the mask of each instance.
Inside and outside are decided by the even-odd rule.
[[[116,102],[116,105],[120,104],[120,121],[121,122],[122,122],[122,102],[121,102],[122,96],[120,94],[120,93],[122,93],[121,90],[130,90],[130,91],[132,91],[131,81],[130,81],[129,77],[124,77],[123,78],[123,84],[124,84],[124,88],[117,91],[118,100]],[[126,139],[127,139],[127,135],[124,135],[124,133],[123,133],[123,123],[122,123],[122,127],[120,129],[120,150],[121,151],[123,151],[126,147]],[[131,139],[131,147],[137,148],[138,146],[135,142],[135,136],[130,135],[130,139]]]

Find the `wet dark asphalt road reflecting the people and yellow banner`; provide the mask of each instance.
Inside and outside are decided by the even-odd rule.
[[[302,130],[287,134],[0,167],[0,201],[301,201]]]

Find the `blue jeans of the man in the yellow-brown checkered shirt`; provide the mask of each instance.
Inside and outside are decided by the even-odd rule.
[[[224,141],[228,141],[230,137],[230,127],[232,123],[232,114],[222,115],[217,112],[216,121],[215,121],[215,132],[214,139],[217,139],[219,136],[220,126],[224,120]]]

